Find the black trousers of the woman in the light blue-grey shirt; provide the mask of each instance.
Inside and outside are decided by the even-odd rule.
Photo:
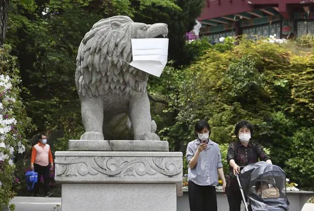
[[[215,186],[201,186],[189,181],[188,199],[190,211],[217,211]]]

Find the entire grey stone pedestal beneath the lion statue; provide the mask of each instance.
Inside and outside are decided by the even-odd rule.
[[[165,141],[88,142],[70,140],[70,151],[55,152],[62,211],[177,211],[182,152],[169,152]]]

